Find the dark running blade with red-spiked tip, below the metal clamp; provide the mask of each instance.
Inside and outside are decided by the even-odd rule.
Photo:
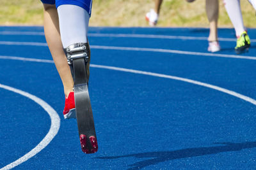
[[[74,67],[74,95],[76,104],[76,118],[81,148],[85,153],[95,153],[98,150],[92,106],[86,80],[84,59],[73,60]]]

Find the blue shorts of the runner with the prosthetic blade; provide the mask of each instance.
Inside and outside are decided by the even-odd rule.
[[[84,8],[91,16],[92,0],[41,0],[44,4],[56,4],[56,8],[61,4],[74,4]]]

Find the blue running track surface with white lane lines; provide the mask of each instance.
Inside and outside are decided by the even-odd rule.
[[[0,27],[0,168],[255,169],[256,29],[91,27],[99,151],[81,151],[43,27]],[[2,169],[1,169],[2,170]]]

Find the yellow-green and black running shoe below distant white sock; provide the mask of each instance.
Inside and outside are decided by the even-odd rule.
[[[248,52],[249,47],[251,45],[250,38],[246,31],[244,31],[236,41],[235,51],[237,54]]]

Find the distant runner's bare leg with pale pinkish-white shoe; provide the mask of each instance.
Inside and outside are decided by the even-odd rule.
[[[218,52],[220,51],[220,45],[218,42],[218,15],[219,15],[219,1],[218,0],[206,0],[205,1],[205,10],[207,13],[207,18],[210,25],[209,33],[209,52]]]

